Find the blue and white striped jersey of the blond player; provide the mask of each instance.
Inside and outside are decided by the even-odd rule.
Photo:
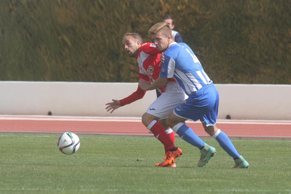
[[[188,96],[212,83],[198,58],[187,44],[173,42],[164,51],[164,57],[165,61],[162,63],[159,76],[162,78],[175,77]]]

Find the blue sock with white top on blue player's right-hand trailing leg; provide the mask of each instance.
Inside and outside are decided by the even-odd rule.
[[[217,130],[213,137],[217,140],[217,142],[224,149],[224,151],[226,151],[226,153],[233,157],[233,159],[239,157],[239,153],[235,149],[233,143],[231,143],[228,136],[220,131],[220,129]]]

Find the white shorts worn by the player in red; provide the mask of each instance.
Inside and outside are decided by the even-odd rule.
[[[188,96],[184,93],[179,84],[171,81],[166,84],[163,92],[149,107],[146,113],[166,119],[173,112],[174,108]]]

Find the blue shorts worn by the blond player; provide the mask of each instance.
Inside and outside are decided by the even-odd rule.
[[[218,104],[219,94],[216,87],[214,84],[207,84],[176,106],[174,114],[192,121],[200,119],[206,126],[213,126],[217,119]]]

